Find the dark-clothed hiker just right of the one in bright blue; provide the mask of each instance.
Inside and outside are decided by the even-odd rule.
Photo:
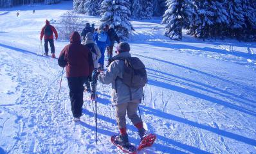
[[[107,31],[107,34],[109,35],[109,40],[110,40],[109,47],[107,47],[107,58],[108,58],[107,67],[108,67],[111,62],[111,58],[113,57],[114,41],[116,41],[119,44],[120,39],[119,39],[118,35],[116,34],[116,31],[114,31],[113,24],[110,25],[109,30]]]

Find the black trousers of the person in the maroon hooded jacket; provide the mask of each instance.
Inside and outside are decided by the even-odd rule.
[[[86,76],[68,78],[69,96],[73,117],[82,116],[84,82],[86,80]]]

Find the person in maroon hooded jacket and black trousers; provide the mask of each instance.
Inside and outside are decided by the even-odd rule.
[[[74,31],[70,44],[62,49],[58,59],[60,67],[66,67],[73,121],[80,121],[82,116],[84,82],[93,71],[92,61],[89,49],[81,44],[79,33]]]

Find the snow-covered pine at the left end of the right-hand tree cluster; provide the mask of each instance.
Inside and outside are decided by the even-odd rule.
[[[191,15],[189,0],[168,0],[168,9],[163,15],[162,23],[165,24],[165,36],[170,39],[181,40],[182,28],[187,28]]]

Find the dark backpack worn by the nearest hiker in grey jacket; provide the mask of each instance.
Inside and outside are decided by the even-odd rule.
[[[147,83],[147,71],[143,62],[137,57],[119,58],[124,61],[122,81],[129,88],[140,89]]]

